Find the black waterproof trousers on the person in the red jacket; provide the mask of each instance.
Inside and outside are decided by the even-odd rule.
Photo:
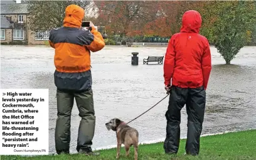
[[[196,156],[200,152],[200,135],[205,115],[206,92],[203,87],[171,87],[168,110],[166,112],[166,154],[175,154],[179,149],[181,109],[186,104],[188,114],[188,133],[186,154]]]

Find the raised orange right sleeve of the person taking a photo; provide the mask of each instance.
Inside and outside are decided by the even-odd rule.
[[[90,45],[86,45],[88,50],[93,51],[93,52],[102,50],[102,48],[104,48],[104,46],[105,46],[105,41],[104,41],[102,35],[94,27],[92,27],[91,33],[94,36],[94,38],[93,38],[92,43],[90,43]]]

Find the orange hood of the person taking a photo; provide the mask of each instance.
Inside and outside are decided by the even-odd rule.
[[[85,16],[85,11],[80,6],[71,4],[65,9],[65,18],[63,25],[66,27],[80,28],[82,20]]]

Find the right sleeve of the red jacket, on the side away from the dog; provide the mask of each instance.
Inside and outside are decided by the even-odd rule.
[[[201,68],[203,71],[203,87],[207,88],[208,80],[211,73],[211,51],[208,40],[206,40],[206,48],[201,59]]]

